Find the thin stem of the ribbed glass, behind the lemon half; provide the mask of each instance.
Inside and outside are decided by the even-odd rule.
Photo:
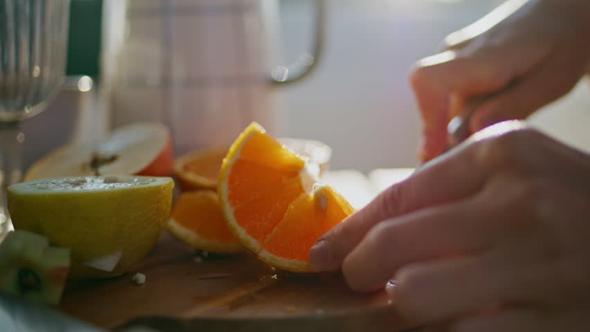
[[[6,190],[21,181],[24,133],[20,122],[0,122],[0,241],[12,230],[6,205]]]

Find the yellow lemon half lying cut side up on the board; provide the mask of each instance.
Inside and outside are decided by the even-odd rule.
[[[168,221],[172,178],[86,176],[49,178],[8,188],[17,230],[71,249],[71,279],[112,277],[154,246]]]

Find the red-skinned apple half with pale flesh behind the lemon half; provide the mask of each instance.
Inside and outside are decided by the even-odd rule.
[[[51,151],[31,165],[24,181],[103,174],[169,176],[173,163],[168,128],[157,122],[136,122],[100,140]]]

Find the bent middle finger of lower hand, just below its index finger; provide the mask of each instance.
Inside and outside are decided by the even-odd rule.
[[[488,220],[476,222],[478,214]],[[355,291],[375,291],[408,264],[481,252],[497,237],[489,222],[496,217],[493,209],[464,200],[384,221],[344,259],[343,275]]]

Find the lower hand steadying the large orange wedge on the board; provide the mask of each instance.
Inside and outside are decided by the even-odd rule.
[[[341,268],[356,291],[395,280],[400,313],[442,331],[590,331],[589,262],[590,156],[517,121],[425,164],[310,250],[314,270]]]

